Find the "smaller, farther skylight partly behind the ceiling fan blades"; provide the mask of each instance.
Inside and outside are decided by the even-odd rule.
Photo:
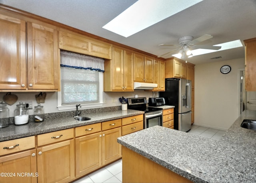
[[[212,49],[195,49],[195,50],[192,50],[192,54],[193,56],[196,56],[196,55],[203,55],[203,54],[206,54],[206,53],[213,53],[213,52],[216,52],[216,51],[223,51],[223,50],[226,50],[226,49],[232,49],[232,48],[237,48],[237,47],[242,47],[242,43],[240,41],[240,39],[238,40],[235,40],[235,41],[230,41],[230,42],[226,42],[226,43],[221,43],[221,44],[218,44],[218,45],[214,45],[214,46],[221,46],[221,49],[219,50],[212,50]],[[172,55],[174,57],[178,57],[178,54],[174,54]]]

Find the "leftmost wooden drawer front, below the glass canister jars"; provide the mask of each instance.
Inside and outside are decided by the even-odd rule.
[[[0,155],[20,152],[31,148],[35,148],[35,136],[8,140],[0,142]]]

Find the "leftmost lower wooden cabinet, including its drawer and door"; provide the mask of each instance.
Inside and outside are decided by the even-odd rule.
[[[0,172],[6,173],[1,182],[37,182],[35,136],[0,142],[0,155]],[[25,172],[32,176],[24,176]]]

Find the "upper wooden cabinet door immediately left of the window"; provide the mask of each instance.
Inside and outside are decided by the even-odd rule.
[[[58,89],[58,31],[27,22],[28,89]]]

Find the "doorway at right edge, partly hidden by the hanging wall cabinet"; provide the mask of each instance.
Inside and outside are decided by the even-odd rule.
[[[245,90],[245,73],[244,69],[239,69],[239,115],[244,110],[256,110],[256,91]]]

